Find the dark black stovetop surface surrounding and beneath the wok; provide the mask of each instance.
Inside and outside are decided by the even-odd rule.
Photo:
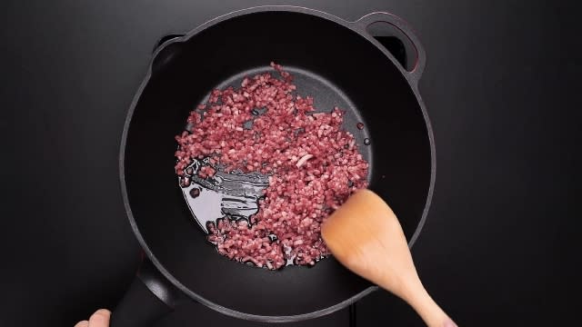
[[[118,147],[152,48],[164,35],[261,4],[3,3],[1,326],[72,326],[115,306],[139,261],[121,200]],[[460,325],[571,322],[582,118],[572,5],[269,4],[348,20],[383,10],[414,26],[426,48],[420,91],[437,144],[435,196],[413,248],[427,290]],[[191,302],[158,326],[186,324],[259,325]],[[348,324],[344,310],[291,325]],[[422,322],[376,292],[356,304],[356,325]]]

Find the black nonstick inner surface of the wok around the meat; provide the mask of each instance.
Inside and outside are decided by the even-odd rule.
[[[313,95],[318,110],[346,110],[346,129],[371,164],[370,188],[394,208],[408,239],[431,180],[429,132],[415,92],[396,64],[355,31],[316,15],[259,12],[166,45],[126,131],[130,219],[146,252],[182,291],[251,319],[333,311],[373,290],[333,258],[276,272],[229,261],[206,242],[186,206],[176,183],[174,135],[210,90],[266,70],[271,61],[296,75],[298,93]],[[363,144],[366,137],[371,144]]]

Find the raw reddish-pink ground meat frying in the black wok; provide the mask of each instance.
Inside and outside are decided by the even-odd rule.
[[[342,129],[344,113],[315,113],[313,98],[296,95],[293,76],[246,77],[240,88],[214,90],[176,136],[176,173],[193,159],[209,158],[198,171],[269,175],[259,211],[246,220],[208,225],[208,241],[228,258],[278,269],[288,262],[313,265],[328,254],[320,225],[350,193],[367,186],[368,163],[354,136]],[[187,178],[187,177],[183,177]]]

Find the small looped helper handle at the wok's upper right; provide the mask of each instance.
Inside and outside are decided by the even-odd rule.
[[[394,36],[404,45],[406,59],[409,64],[404,66],[406,76],[418,84],[420,76],[425,70],[426,53],[414,30],[402,18],[385,12],[376,12],[363,16],[353,23],[360,33],[376,36]],[[375,35],[379,31],[381,35]]]

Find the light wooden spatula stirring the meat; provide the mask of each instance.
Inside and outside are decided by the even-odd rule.
[[[376,193],[356,191],[321,233],[340,263],[408,302],[426,325],[457,326],[426,292],[396,215]]]

